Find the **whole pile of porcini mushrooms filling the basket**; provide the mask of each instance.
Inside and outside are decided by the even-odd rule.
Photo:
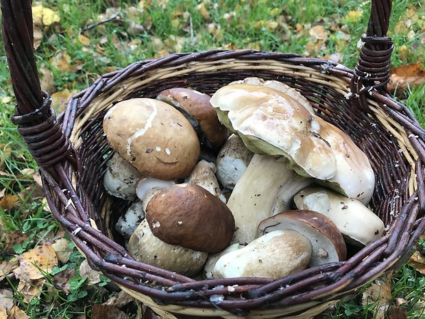
[[[282,278],[384,235],[365,154],[298,91],[246,78],[112,106],[104,187],[130,254],[193,278]]]

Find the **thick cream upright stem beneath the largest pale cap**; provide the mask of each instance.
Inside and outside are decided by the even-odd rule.
[[[276,207],[289,204],[288,200],[278,198],[292,198],[304,187],[305,180],[306,178],[287,168],[284,158],[254,154],[228,200],[237,229],[232,243],[244,244],[253,241],[258,224],[271,217],[274,211],[278,210]],[[297,187],[297,184],[301,188]],[[291,192],[283,195],[287,188]]]

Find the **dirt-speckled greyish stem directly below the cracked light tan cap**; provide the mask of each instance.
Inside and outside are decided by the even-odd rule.
[[[104,176],[106,191],[124,200],[136,199],[136,182],[143,176],[124,158],[115,153],[108,163]]]

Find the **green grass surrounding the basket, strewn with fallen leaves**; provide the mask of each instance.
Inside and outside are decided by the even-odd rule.
[[[370,5],[369,1],[352,0],[263,0],[255,1],[257,5],[247,0],[207,1],[205,7],[210,19],[206,19],[197,9],[200,1],[154,0],[151,8],[145,7],[136,14],[136,18],[132,18],[128,8],[137,1],[115,1],[118,3],[120,21],[105,23],[85,32],[90,43],[84,47],[77,35],[109,8],[107,2],[41,2],[60,15],[58,25],[46,27],[42,45],[36,51],[38,66],[44,64],[53,73],[58,92],[64,89],[80,91],[99,75],[138,60],[175,51],[202,51],[217,47],[294,52],[313,57],[330,56],[337,52],[341,54],[341,62],[353,68],[359,55],[356,45],[365,32]],[[420,3],[413,0],[394,1],[389,30],[395,46],[391,60],[393,67],[411,62],[425,63],[425,49],[421,43],[424,38],[425,10],[420,8]],[[406,32],[394,32],[411,5],[417,8],[415,11],[419,18],[411,21],[411,27]],[[348,16],[350,11],[363,14],[359,19],[352,19]],[[279,22],[278,25],[274,24],[275,21]],[[145,25],[145,29],[129,35],[127,28],[132,22]],[[296,31],[300,25],[302,29]],[[323,47],[311,49],[314,41],[308,32],[315,25],[324,26],[328,40]],[[411,30],[413,34],[409,34]],[[51,62],[55,56],[64,52],[71,57],[71,67],[78,66],[77,69],[63,71]],[[8,233],[24,231],[27,236],[23,242],[15,244],[12,250],[5,246],[4,241],[3,245],[0,241],[0,261],[25,252],[60,231],[59,224],[53,220],[41,198],[36,196],[36,188],[24,191],[34,186],[34,180],[23,176],[21,172],[23,169],[36,169],[36,163],[9,119],[15,101],[13,98],[8,101],[13,95],[8,80],[3,45],[0,45],[0,157],[4,158],[0,171],[7,173],[0,175],[0,191],[6,189],[8,194],[22,195],[14,209],[5,211],[0,208],[0,220]],[[424,126],[425,86],[409,88],[408,97],[403,102]],[[64,294],[53,285],[54,273],[45,274],[45,287],[38,298],[29,303],[17,291],[16,280],[2,281],[0,288],[12,288],[16,303],[30,318],[77,318],[81,314],[90,315],[91,303],[101,303],[116,292],[104,288],[104,285],[111,285],[106,279],[101,281],[101,285],[88,285],[87,279],[78,272],[82,260],[80,252],[74,250],[70,261],[54,270],[75,271],[75,276],[70,280],[69,294]],[[425,318],[423,307],[415,307],[425,305],[424,286],[425,277],[409,265],[404,265],[391,282],[392,297],[406,300],[407,303],[400,307],[406,309],[409,318]],[[373,305],[361,304],[361,292],[355,298],[345,298],[321,318],[374,318]],[[130,318],[136,318],[136,309],[136,305],[130,305],[125,311],[132,314]]]

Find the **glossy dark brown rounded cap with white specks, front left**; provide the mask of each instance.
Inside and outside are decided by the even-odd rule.
[[[162,189],[147,204],[146,220],[162,241],[197,251],[219,252],[234,233],[230,209],[195,184]]]

